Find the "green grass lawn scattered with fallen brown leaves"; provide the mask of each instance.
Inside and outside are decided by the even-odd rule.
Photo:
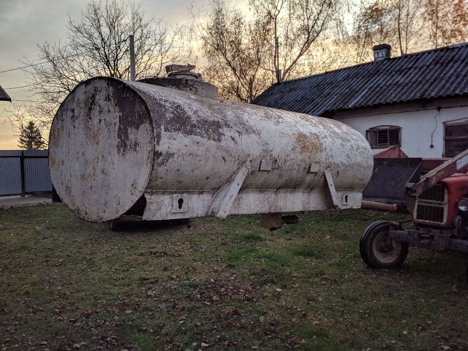
[[[60,205],[0,210],[0,349],[468,349],[466,258],[368,269],[404,214],[323,211],[111,232]]]

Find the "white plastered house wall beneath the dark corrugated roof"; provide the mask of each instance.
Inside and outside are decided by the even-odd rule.
[[[332,118],[348,124],[364,136],[366,130],[372,127],[399,126],[401,127],[401,149],[409,157],[443,157],[443,123],[462,120],[468,122],[468,98],[341,111],[335,113]],[[382,148],[373,149],[374,152],[380,150]]]

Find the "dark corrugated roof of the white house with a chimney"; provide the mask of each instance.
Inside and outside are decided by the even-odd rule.
[[[468,94],[468,43],[273,84],[253,104],[326,111]]]

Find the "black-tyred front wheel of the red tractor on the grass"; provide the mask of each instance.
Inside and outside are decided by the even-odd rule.
[[[369,267],[396,268],[405,261],[409,244],[396,239],[387,242],[389,230],[390,222],[378,221],[367,227],[361,236],[361,257]]]

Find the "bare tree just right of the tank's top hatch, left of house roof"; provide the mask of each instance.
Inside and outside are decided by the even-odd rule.
[[[246,21],[241,11],[223,0],[211,3],[206,18],[203,24],[195,21],[191,31],[201,41],[207,62],[203,76],[218,86],[221,97],[251,101],[271,83],[264,69],[271,58],[268,26],[263,19]]]

